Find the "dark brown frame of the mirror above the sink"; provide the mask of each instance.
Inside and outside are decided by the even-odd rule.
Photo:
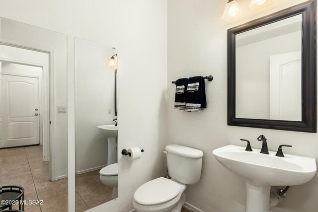
[[[236,34],[302,15],[302,121],[236,118]],[[306,1],[228,30],[228,125],[317,132],[316,0]]]

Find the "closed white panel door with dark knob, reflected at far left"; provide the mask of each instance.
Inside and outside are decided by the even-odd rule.
[[[39,144],[39,79],[2,74],[2,146]]]

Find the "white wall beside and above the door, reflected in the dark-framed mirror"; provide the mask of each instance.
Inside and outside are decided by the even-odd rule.
[[[298,31],[236,48],[237,118],[270,119],[269,57],[301,51],[301,40],[302,32]]]

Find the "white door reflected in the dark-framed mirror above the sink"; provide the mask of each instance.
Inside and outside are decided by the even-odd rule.
[[[302,121],[302,53],[270,56],[270,119]]]

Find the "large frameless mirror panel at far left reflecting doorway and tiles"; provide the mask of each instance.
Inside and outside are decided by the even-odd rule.
[[[67,40],[0,18],[0,210],[68,210]]]

